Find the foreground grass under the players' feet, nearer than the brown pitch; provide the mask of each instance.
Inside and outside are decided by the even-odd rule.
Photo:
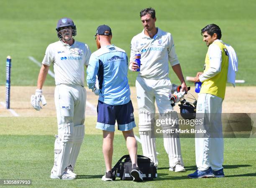
[[[137,119],[137,118],[136,118]],[[161,138],[156,139],[159,152],[158,175],[154,181],[135,183],[116,180],[102,182],[105,164],[102,155],[102,135],[95,129],[95,117],[86,118],[86,135],[79,153],[75,172],[76,180],[52,180],[54,133],[56,118],[0,118],[0,179],[30,179],[33,187],[253,187],[256,182],[255,139],[225,138],[225,178],[189,179],[194,172],[195,144],[193,138],[182,138],[182,154],[187,172],[170,172],[168,156]],[[19,123],[17,123],[19,122]],[[37,125],[35,123],[38,122]],[[135,128],[136,135],[138,129]],[[127,154],[125,140],[116,132],[113,165]],[[141,145],[138,146],[141,154]]]

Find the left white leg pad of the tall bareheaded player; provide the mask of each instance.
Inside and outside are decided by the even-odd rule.
[[[150,158],[154,165],[158,165],[156,157],[156,139],[152,138],[151,113],[139,111],[139,134],[143,155]]]

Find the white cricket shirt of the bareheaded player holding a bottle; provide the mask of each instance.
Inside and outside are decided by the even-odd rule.
[[[144,34],[144,30],[131,40],[130,61],[135,61],[135,54],[141,54],[141,71],[138,76],[149,79],[168,77],[169,67],[179,64],[175,53],[174,41],[171,33],[158,28],[153,38]]]

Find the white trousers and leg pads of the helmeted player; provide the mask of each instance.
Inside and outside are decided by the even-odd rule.
[[[78,85],[56,85],[54,98],[58,136],[52,172],[61,176],[67,166],[74,168],[84,138],[86,90]]]

